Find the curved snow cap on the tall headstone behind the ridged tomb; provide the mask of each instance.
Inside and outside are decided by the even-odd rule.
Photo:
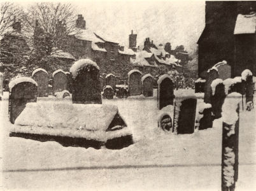
[[[90,60],[90,59],[81,59],[77,60],[69,69],[71,72],[73,78],[75,78],[81,69],[84,69],[87,66],[95,67],[97,70],[99,70],[99,66],[97,66],[96,62]]]

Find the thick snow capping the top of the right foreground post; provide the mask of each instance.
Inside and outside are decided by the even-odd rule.
[[[222,119],[226,124],[232,125],[235,124],[238,120],[238,113],[236,113],[236,109],[238,108],[238,104],[242,100],[242,95],[238,92],[232,92],[227,95],[224,100],[224,104],[222,105]]]

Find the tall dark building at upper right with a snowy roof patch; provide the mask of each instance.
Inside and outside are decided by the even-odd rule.
[[[222,60],[231,66],[232,77],[244,69],[256,74],[255,10],[256,1],[206,1],[205,27],[197,42],[199,77]]]

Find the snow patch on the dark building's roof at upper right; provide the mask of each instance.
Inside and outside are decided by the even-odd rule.
[[[239,14],[236,18],[234,34],[254,34],[256,30],[256,13],[250,15]]]

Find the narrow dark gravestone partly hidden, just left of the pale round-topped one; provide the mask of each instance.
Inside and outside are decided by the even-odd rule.
[[[211,103],[211,82],[216,78],[218,78],[218,69],[213,66],[208,70],[208,76],[204,85],[204,103]]]

